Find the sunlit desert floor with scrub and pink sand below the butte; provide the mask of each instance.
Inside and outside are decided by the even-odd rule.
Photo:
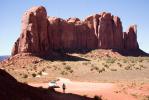
[[[66,92],[108,100],[149,100],[149,57],[124,57],[110,50],[56,59],[16,55],[0,62],[0,68],[33,86],[47,87],[49,81],[61,77],[60,86],[72,80],[66,81]]]

